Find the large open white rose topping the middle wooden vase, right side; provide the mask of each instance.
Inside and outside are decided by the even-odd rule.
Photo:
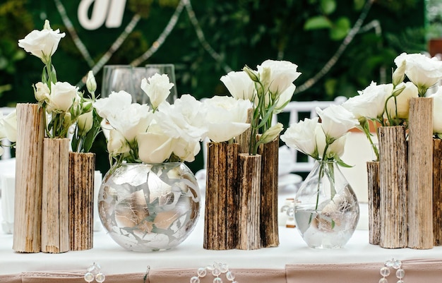
[[[265,60],[257,68],[261,76],[268,71],[266,68],[270,69],[269,90],[272,95],[280,95],[301,75],[297,72],[298,66],[289,61]]]

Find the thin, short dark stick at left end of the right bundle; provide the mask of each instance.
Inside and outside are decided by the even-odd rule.
[[[379,188],[379,162],[366,162],[369,192],[369,243],[378,245],[381,227],[379,223],[380,188]]]

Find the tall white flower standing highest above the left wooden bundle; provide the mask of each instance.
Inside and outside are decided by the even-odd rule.
[[[18,47],[40,58],[44,64],[51,61],[51,56],[59,46],[61,38],[66,34],[60,30],[52,30],[49,20],[45,20],[43,30],[32,30],[22,40],[18,40]]]

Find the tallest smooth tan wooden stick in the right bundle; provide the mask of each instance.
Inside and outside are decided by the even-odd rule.
[[[408,247],[433,248],[433,98],[410,100]]]

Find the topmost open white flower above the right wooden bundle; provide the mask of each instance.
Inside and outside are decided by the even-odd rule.
[[[420,97],[423,97],[426,90],[442,78],[442,61],[436,57],[402,53],[395,58],[396,66],[402,66],[403,61],[405,61],[405,75],[417,86]]]

